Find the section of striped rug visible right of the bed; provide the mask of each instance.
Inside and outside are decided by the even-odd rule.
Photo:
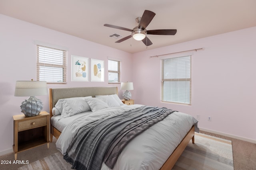
[[[195,133],[172,170],[234,170],[231,141]]]

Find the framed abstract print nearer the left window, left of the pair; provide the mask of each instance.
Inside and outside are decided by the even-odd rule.
[[[85,81],[88,82],[88,66],[89,59],[86,57],[80,57],[71,55],[72,57],[72,81]]]

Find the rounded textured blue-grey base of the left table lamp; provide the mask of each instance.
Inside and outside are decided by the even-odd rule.
[[[20,108],[21,112],[24,113],[25,116],[36,116],[43,109],[43,103],[35,96],[30,96],[30,98],[21,103]]]

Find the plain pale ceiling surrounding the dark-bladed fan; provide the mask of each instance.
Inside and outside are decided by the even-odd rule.
[[[146,28],[177,29],[176,35],[148,35],[152,45],[126,37],[144,10],[156,13]],[[0,0],[0,14],[136,53],[193,39],[256,26],[256,0]]]

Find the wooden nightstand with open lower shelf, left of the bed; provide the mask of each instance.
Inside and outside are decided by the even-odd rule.
[[[26,117],[14,115],[13,118],[13,151],[17,160],[17,153],[47,143],[49,149],[50,141],[50,114],[41,111],[37,116]]]

